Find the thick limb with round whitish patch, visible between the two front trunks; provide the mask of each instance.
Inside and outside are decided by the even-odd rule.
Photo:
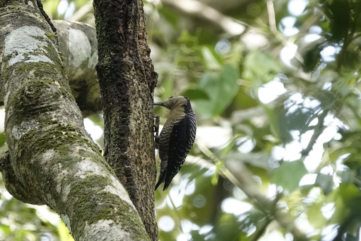
[[[54,20],[62,63],[83,117],[103,111],[95,65],[98,46],[95,27],[81,22]]]

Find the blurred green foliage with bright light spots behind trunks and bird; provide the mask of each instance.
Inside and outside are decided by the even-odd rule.
[[[359,240],[361,1],[236,2],[206,1],[249,25],[239,35],[206,12],[144,1],[155,98],[188,96],[199,125],[186,164],[155,193],[160,240],[297,240],[275,210],[309,240]],[[44,2],[52,19],[92,23],[85,6]],[[155,112],[164,122],[168,111]],[[103,128],[90,120],[90,133]],[[275,210],[220,175],[229,161],[245,164]],[[71,240],[56,214],[15,200],[3,182],[0,197],[0,240]]]

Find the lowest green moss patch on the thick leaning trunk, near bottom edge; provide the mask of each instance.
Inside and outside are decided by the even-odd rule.
[[[106,191],[105,187],[108,185],[112,186],[109,177],[89,175],[72,186],[69,201],[73,203],[73,213],[83,214],[71,219],[71,229],[77,234],[75,239],[83,235],[86,223],[91,225],[99,220],[112,219],[122,227],[133,227],[130,234],[134,240],[147,240],[143,224],[136,218],[138,214],[134,208],[118,195]],[[129,215],[129,212],[134,214]]]

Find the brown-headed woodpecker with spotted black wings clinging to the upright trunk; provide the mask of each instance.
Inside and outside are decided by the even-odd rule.
[[[181,169],[193,146],[196,138],[197,120],[187,97],[172,96],[153,105],[170,109],[168,119],[160,135],[158,135],[157,127],[155,135],[156,149],[159,150],[160,159],[160,174],[155,190],[164,182],[164,191]],[[156,118],[156,125],[158,124],[159,127],[159,116]]]

